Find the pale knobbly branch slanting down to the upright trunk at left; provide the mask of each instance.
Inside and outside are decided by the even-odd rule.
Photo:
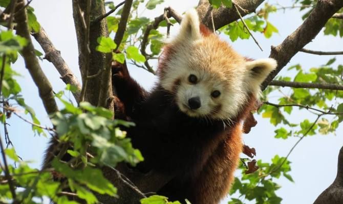
[[[65,60],[63,60],[63,58],[61,57],[61,53],[59,52],[59,50],[55,48],[54,44],[49,39],[45,30],[42,27],[40,27],[39,32],[34,33],[33,37],[37,40],[41,48],[44,50],[45,59],[51,62],[61,75],[61,80],[66,84],[71,84],[77,87],[77,91],[73,93],[73,95],[76,101],[78,101],[80,96],[81,85],[75,77],[74,73],[71,71],[71,69],[65,62]]]

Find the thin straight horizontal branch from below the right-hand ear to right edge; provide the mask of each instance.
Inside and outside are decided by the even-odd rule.
[[[313,88],[313,89],[329,89],[329,90],[343,90],[343,85],[328,84],[328,83],[305,83],[305,82],[285,82],[273,80],[269,86],[282,86],[293,88]]]

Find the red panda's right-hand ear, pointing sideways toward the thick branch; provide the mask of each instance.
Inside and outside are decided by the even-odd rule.
[[[258,94],[260,92],[260,85],[276,66],[277,62],[272,58],[247,61],[246,68],[248,69],[248,76],[246,80],[249,89]]]

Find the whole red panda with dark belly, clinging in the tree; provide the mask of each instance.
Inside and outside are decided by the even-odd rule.
[[[127,136],[145,158],[137,168],[175,175],[157,192],[170,200],[218,203],[242,151],[241,121],[276,61],[246,60],[190,10],[180,33],[164,46],[151,92],[118,67],[113,66],[117,96],[125,116],[136,123]]]

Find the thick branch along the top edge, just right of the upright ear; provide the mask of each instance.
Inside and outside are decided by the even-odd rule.
[[[240,10],[240,14],[245,16],[254,12],[262,2],[264,2],[264,0],[236,0],[234,1],[234,4],[237,5],[238,8],[244,9]],[[208,1],[200,1],[197,11],[201,22],[208,28],[211,28],[211,12],[213,12],[213,21],[216,22],[216,30],[240,18],[234,7],[226,8],[222,6],[219,9],[212,10]]]

